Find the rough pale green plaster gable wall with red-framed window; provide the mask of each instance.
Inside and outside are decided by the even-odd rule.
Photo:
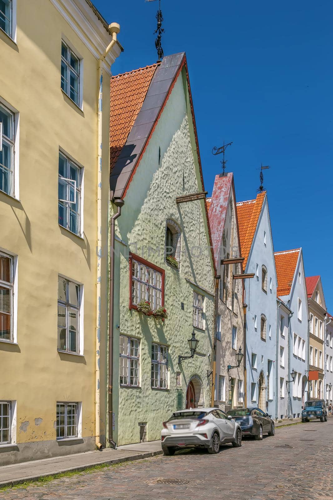
[[[186,87],[183,81],[184,74],[181,74],[128,188],[121,217],[117,219],[117,234],[126,244],[116,242],[115,259],[114,321],[120,329],[115,329],[113,395],[114,437],[118,444],[139,441],[139,422],[147,422],[147,440],[159,438],[162,421],[176,409],[178,370],[181,372],[183,407],[186,388],[193,376],[202,384],[203,404],[210,404],[207,370],[211,367],[209,355],[214,329],[214,278],[211,253],[207,248],[204,200],[179,205],[175,200],[176,196],[202,190],[198,183],[196,153],[192,150],[193,130],[188,120],[188,95],[184,95]],[[165,223],[169,218],[175,220],[182,230],[179,271],[164,260]],[[152,250],[148,249],[149,246]],[[194,248],[198,246],[200,248]],[[169,317],[164,322],[129,310],[129,250],[165,269],[165,307]],[[197,351],[201,355],[184,360],[179,367],[178,355],[189,355],[187,340],[193,330],[193,290],[205,296],[205,329],[195,329],[199,340]],[[139,388],[119,387],[119,333],[140,338]],[[152,341],[169,346],[167,390],[151,388]]]

